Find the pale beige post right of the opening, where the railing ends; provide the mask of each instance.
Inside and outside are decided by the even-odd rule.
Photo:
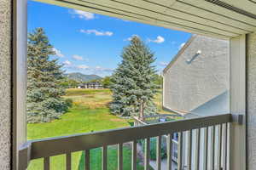
[[[246,169],[246,35],[230,39],[230,113],[243,120],[230,124],[229,169]]]

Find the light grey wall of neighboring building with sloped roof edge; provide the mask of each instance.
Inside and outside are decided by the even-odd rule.
[[[195,56],[199,50],[201,54]],[[164,106],[180,111],[201,111],[205,116],[228,112],[229,42],[194,36],[179,53],[164,71]],[[215,98],[222,102],[216,102]],[[218,111],[216,107],[212,110],[202,107],[206,103],[218,104]]]

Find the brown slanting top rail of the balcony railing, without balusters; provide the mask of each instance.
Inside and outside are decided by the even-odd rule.
[[[124,127],[96,133],[83,133],[50,139],[31,140],[28,141],[29,144],[27,144],[31,144],[31,152],[27,155],[29,155],[30,159],[57,156],[68,152],[90,150],[110,144],[130,142],[136,139],[145,139],[168,133],[209,127],[231,122],[231,120],[232,117],[230,114],[224,114],[184,119],[175,122],[160,122],[140,127]],[[20,153],[25,153],[26,150],[26,147],[24,147],[20,150]]]

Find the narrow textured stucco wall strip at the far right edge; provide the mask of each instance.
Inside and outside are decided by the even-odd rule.
[[[247,35],[247,159],[256,169],[256,32]]]

